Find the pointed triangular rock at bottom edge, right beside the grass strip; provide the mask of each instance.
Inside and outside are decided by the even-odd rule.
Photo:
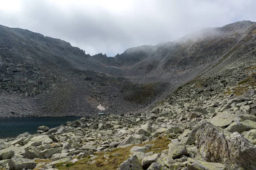
[[[123,161],[117,168],[117,170],[142,170],[140,161],[136,155],[131,156],[127,160]]]

